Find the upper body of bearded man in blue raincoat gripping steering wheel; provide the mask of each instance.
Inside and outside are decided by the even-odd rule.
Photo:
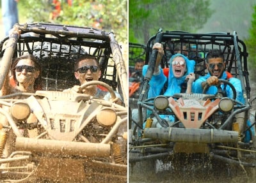
[[[223,54],[219,49],[212,49],[206,55],[206,68],[208,70],[207,75],[200,77],[195,81],[195,92],[202,93],[205,84],[209,84],[210,87],[206,91],[207,94],[216,94],[218,88],[215,86],[219,82],[219,78],[228,80],[236,89],[236,99],[244,103],[243,92],[241,87],[241,82],[237,78],[230,77],[230,75],[225,72],[226,62],[224,61]],[[232,89],[225,84],[221,84],[221,89],[223,94],[228,98],[233,98]]]

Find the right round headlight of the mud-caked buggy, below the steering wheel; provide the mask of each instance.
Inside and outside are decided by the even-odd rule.
[[[111,126],[116,122],[116,112],[111,108],[102,108],[96,115],[96,119],[102,126]]]

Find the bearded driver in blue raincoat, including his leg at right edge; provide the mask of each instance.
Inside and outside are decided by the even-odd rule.
[[[219,49],[213,49],[209,50],[209,52],[206,55],[206,67],[208,70],[207,75],[204,77],[200,77],[195,81],[195,93],[202,93],[203,89],[207,84],[210,85],[210,87],[207,89],[207,94],[218,94],[221,89],[221,95],[228,98],[233,98],[233,91],[231,87],[227,84],[220,84],[220,87],[216,87],[216,85],[219,83],[219,79],[228,80],[231,85],[234,86],[236,89],[236,100],[240,101],[241,103],[244,103],[244,97],[243,97],[243,90],[241,81],[238,78],[232,77],[230,73],[225,71],[226,62],[224,60],[224,55]],[[244,112],[238,113],[235,115],[237,119],[240,117],[244,118]],[[239,130],[244,131],[245,126],[252,126],[250,121],[247,121],[247,124],[245,124],[243,121],[238,121],[239,124]],[[254,136],[255,131],[253,128],[250,128],[252,131],[252,135]],[[248,135],[249,131],[245,133],[244,142],[250,142],[250,138]]]

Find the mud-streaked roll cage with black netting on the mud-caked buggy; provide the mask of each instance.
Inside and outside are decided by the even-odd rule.
[[[74,62],[84,54],[95,55],[100,63],[100,81],[118,91],[127,103],[127,72],[120,46],[111,32],[92,27],[59,24],[17,24],[21,31],[17,43],[12,45],[13,57],[33,54],[42,65],[42,89],[63,91],[78,84],[74,77]],[[0,43],[0,57],[6,50],[6,40]],[[3,61],[2,61],[3,62]],[[8,62],[8,61],[4,61]],[[3,73],[3,72],[2,72]],[[2,75],[2,79],[4,76]],[[120,82],[122,78],[122,82]],[[1,80],[2,84],[3,80]]]

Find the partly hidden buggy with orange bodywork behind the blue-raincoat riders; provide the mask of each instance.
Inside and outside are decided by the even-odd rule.
[[[137,59],[146,59],[146,46],[138,43],[129,43],[129,107],[137,108],[137,102],[140,92],[141,71],[137,71],[134,77],[130,77],[135,72],[135,63]]]

